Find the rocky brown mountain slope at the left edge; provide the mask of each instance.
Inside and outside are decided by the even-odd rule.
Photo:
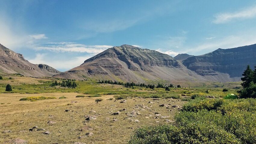
[[[51,77],[60,71],[45,64],[33,64],[25,60],[22,54],[0,44],[0,72],[19,73],[32,77]]]

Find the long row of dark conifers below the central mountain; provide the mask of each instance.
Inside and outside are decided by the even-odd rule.
[[[150,88],[150,89],[154,89],[154,88],[165,88],[165,90],[170,91],[169,87],[174,87],[173,84],[170,84],[169,86],[163,85],[163,84],[159,84],[157,86],[155,86],[155,84],[144,84],[144,83],[134,83],[134,82],[120,82],[120,81],[112,81],[112,80],[98,80],[97,82],[98,84],[117,84],[117,85],[123,85],[125,87],[146,87],[146,88]],[[180,85],[178,85],[180,86]]]

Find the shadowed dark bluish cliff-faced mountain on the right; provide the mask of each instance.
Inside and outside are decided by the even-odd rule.
[[[189,57],[184,66],[207,79],[240,81],[247,65],[256,66],[256,44],[229,49],[217,49],[208,54]]]

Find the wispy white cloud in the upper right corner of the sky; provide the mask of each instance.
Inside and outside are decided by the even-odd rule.
[[[233,19],[249,19],[256,16],[256,6],[253,7],[247,7],[243,10],[240,10],[238,12],[234,13],[220,13],[217,14],[215,19],[213,20],[214,23],[220,24],[220,23],[226,23]]]

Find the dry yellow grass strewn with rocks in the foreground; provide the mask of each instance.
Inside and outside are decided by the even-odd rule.
[[[95,103],[95,98],[76,98],[78,93],[40,93],[40,94],[0,94],[0,143],[5,143],[14,138],[26,140],[29,144],[45,143],[99,143],[115,144],[126,143],[133,130],[143,125],[159,125],[166,123],[166,119],[154,119],[155,112],[162,116],[170,116],[173,120],[177,111],[159,107],[159,104],[183,105],[185,103],[176,99],[153,98],[128,98],[125,103],[109,101],[113,95],[102,96],[103,101]],[[20,98],[28,96],[55,96],[57,99],[38,101],[19,101]],[[65,96],[65,99],[58,99]],[[99,97],[98,97],[99,98]],[[71,103],[71,101],[77,101]],[[154,104],[148,104],[149,101]],[[142,106],[144,104],[144,108]],[[148,106],[150,109],[145,108]],[[119,110],[119,115],[111,115]],[[70,110],[65,112],[65,110]],[[96,113],[91,112],[92,110]],[[139,111],[137,117],[129,117],[126,113],[133,110]],[[170,111],[171,110],[171,111]],[[153,115],[153,116],[150,116]],[[86,121],[86,116],[96,116],[95,120]],[[149,117],[149,118],[145,118]],[[113,121],[113,119],[118,121]],[[135,122],[135,120],[139,122]],[[159,123],[155,121],[159,121]],[[56,123],[49,125],[48,121]],[[45,131],[29,131],[30,128],[39,128],[50,131],[51,134],[42,134]],[[133,129],[134,128],[134,129]],[[3,134],[2,131],[11,130],[11,133]],[[92,132],[91,137],[85,136],[87,132]],[[81,139],[78,137],[85,136]]]

